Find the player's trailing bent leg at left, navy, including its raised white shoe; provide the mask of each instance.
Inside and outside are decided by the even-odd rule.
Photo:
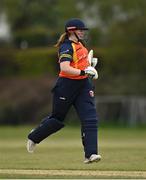
[[[40,125],[33,129],[28,135],[27,150],[32,151],[35,144],[40,143],[49,135],[57,132],[64,127],[63,121],[70,109],[76,94],[78,93],[76,86],[71,81],[62,79],[63,82],[57,82],[53,88],[53,105],[51,116],[46,117]],[[31,148],[32,147],[32,148]]]

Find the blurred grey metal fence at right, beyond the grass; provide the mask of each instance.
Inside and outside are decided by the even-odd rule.
[[[146,97],[97,96],[97,111],[101,121],[116,121],[129,126],[146,125]]]

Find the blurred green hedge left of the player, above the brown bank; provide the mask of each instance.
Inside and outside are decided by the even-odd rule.
[[[0,76],[55,75],[57,61],[55,48],[0,50]]]

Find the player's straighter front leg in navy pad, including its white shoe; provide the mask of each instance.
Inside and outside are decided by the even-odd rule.
[[[98,119],[93,88],[88,80],[85,83],[85,88],[76,99],[74,106],[81,120],[82,143],[86,158],[85,163],[97,161],[101,158],[98,156]]]

